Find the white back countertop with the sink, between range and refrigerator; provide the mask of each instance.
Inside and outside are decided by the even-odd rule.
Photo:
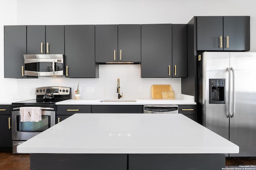
[[[114,102],[100,102],[102,100],[110,100]],[[126,102],[133,99],[91,99],[91,100],[64,100],[57,102],[56,105],[195,105],[196,102],[190,100],[163,100],[163,99],[135,99],[136,102]],[[118,102],[123,101],[123,102]]]

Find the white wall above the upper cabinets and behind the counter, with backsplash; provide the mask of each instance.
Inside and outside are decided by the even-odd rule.
[[[250,51],[256,51],[254,0],[9,0],[0,3],[4,6],[0,13],[4,20],[0,20],[0,25],[188,23],[193,16],[251,16]],[[0,30],[0,61],[4,61],[3,26]],[[0,93],[6,94],[8,84],[12,84],[11,93],[20,98],[33,98],[36,87],[56,85],[74,89],[78,82],[82,98],[116,98],[117,78],[124,98],[150,98],[151,84],[171,84],[176,97],[181,93],[180,78],[140,78],[139,65],[100,65],[97,79],[12,80],[3,78],[2,62],[0,69],[0,87],[4,87]],[[139,92],[139,86],[143,92]],[[28,87],[28,92],[24,92],[24,87]],[[86,92],[86,87],[94,87],[95,92]]]

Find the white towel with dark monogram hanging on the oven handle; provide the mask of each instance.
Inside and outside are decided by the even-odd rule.
[[[41,107],[20,107],[20,121],[41,121]]]

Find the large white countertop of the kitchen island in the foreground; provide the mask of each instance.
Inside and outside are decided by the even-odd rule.
[[[209,154],[238,153],[239,147],[182,114],[76,113],[17,151]]]

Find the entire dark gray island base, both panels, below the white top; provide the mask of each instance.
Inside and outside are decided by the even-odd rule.
[[[225,154],[30,154],[31,170],[218,170]]]

